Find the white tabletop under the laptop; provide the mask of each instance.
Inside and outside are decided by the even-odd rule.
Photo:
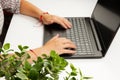
[[[90,17],[97,0],[29,0],[36,6],[51,14],[62,17]],[[28,45],[30,48],[42,46],[43,25],[38,20],[25,15],[14,15],[8,29],[5,42],[16,50],[17,45]],[[80,67],[85,75],[93,80],[120,80],[120,30],[115,36],[107,55],[101,59],[68,59]]]

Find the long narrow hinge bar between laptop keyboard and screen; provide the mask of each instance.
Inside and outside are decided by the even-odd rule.
[[[93,34],[94,34],[94,37],[95,37],[95,40],[96,40],[96,44],[97,44],[98,50],[102,51],[102,48],[101,48],[101,45],[100,45],[100,41],[98,39],[98,35],[97,35],[97,32],[95,30],[95,26],[94,26],[94,23],[93,23],[92,20],[90,20],[90,24],[91,24],[91,27],[92,27],[92,30],[93,30]]]

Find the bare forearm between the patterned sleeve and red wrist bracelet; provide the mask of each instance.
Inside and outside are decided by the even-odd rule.
[[[39,19],[43,11],[38,7],[34,6],[33,4],[31,4],[30,2],[26,0],[21,0],[20,13]]]

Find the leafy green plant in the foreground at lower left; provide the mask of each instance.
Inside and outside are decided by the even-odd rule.
[[[51,51],[50,56],[43,54],[44,58],[38,57],[33,64],[28,62],[30,58],[27,53],[28,46],[18,45],[19,52],[10,49],[10,44],[6,43],[0,48],[0,77],[5,76],[6,80],[59,80],[59,74],[65,71],[68,62],[60,57],[55,51]],[[9,55],[12,52],[15,55]],[[81,70],[77,70],[70,64],[71,72],[65,71],[67,75],[64,80],[86,80],[91,77],[82,75]],[[76,76],[80,75],[77,79]]]

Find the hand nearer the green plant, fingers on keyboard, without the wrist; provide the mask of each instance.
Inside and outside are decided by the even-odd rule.
[[[52,39],[50,39],[43,47],[42,51],[49,55],[51,50],[55,50],[59,55],[65,54],[74,54],[75,50],[70,50],[66,48],[76,49],[75,44],[66,38],[59,37],[57,34]]]

